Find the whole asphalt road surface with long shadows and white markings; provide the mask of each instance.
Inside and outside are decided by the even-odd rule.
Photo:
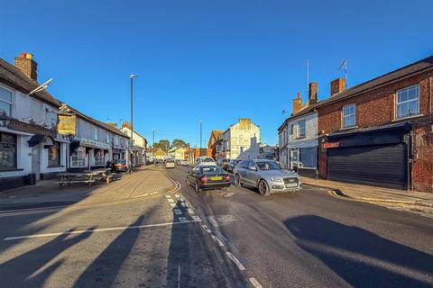
[[[164,169],[177,183],[173,190],[129,202],[106,201],[122,198],[120,193],[134,194],[130,190],[136,187],[128,190],[128,183],[143,183],[138,180],[148,170],[118,182],[124,190],[107,193],[106,186],[99,196],[94,191],[91,196],[99,204],[94,200],[77,209],[4,209],[2,286],[433,284],[429,218],[343,201],[308,185],[297,193],[267,197],[234,185],[228,191],[197,194],[185,185],[188,169]]]

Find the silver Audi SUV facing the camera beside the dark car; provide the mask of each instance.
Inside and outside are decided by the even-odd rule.
[[[302,178],[283,164],[272,160],[245,160],[235,167],[235,185],[251,185],[262,195],[302,189]]]

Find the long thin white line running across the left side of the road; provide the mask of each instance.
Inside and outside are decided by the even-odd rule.
[[[168,222],[168,223],[158,223],[158,224],[148,224],[148,225],[135,225],[135,226],[124,226],[124,227],[113,227],[113,228],[101,228],[101,229],[87,229],[87,230],[68,230],[64,232],[56,232],[56,233],[46,233],[46,234],[35,234],[35,235],[23,235],[23,236],[15,236],[4,238],[4,241],[15,240],[15,239],[24,239],[24,238],[43,238],[43,237],[55,237],[60,235],[69,235],[69,234],[80,234],[80,233],[96,233],[96,232],[106,232],[106,231],[115,231],[115,230],[124,230],[124,229],[142,229],[142,228],[152,228],[152,227],[163,227],[163,226],[172,226],[177,224],[187,224],[198,222],[197,220],[187,220],[186,222]]]

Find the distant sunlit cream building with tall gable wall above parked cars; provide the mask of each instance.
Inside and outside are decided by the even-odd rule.
[[[235,159],[251,147],[251,139],[255,137],[260,142],[260,127],[251,119],[239,119],[224,131],[221,145],[218,146],[217,158]]]

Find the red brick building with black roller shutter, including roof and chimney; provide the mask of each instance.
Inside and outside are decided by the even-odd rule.
[[[433,192],[433,56],[345,89],[318,107],[321,178]]]

